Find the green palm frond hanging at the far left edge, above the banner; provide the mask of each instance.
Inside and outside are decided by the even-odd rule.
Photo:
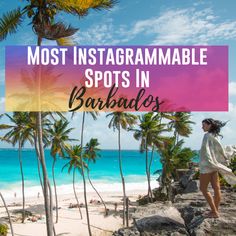
[[[20,8],[9,11],[0,19],[0,41],[4,40],[8,34],[16,32],[17,27],[21,24],[23,12]]]

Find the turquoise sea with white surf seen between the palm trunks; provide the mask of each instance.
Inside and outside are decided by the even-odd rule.
[[[118,150],[102,150],[100,155],[95,164],[90,164],[90,177],[102,191],[108,191],[111,188],[115,190],[120,185]],[[52,157],[50,156],[50,150],[45,150],[45,156],[48,174],[51,179]],[[40,190],[35,151],[33,149],[23,149],[22,160],[28,194],[32,192],[32,189]],[[57,185],[59,188],[61,186],[63,193],[69,193],[69,189],[72,190],[69,187],[72,183],[72,173],[68,174],[66,169],[62,172],[62,167],[67,162],[67,159],[58,159],[55,167]],[[139,189],[143,187],[146,189],[146,184],[144,184],[146,182],[145,153],[140,153],[138,150],[122,150],[122,163],[127,188]],[[159,155],[155,153],[151,169],[151,178],[154,185],[157,184],[158,175],[154,175],[153,172],[157,169],[161,169],[161,163]],[[79,173],[76,181],[78,188],[82,191],[82,179]],[[18,150],[0,149],[0,190],[11,197],[13,192],[20,192],[20,187],[21,175]]]

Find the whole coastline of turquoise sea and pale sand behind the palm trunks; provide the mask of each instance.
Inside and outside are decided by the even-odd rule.
[[[22,189],[21,176],[19,172],[19,161],[16,150],[6,151],[1,149],[1,193],[5,198],[13,221],[15,235],[24,236],[44,236],[46,235],[46,222],[44,212],[44,199],[42,189],[38,179],[37,163],[35,151],[33,149],[24,149],[23,157],[24,174],[25,174],[25,210],[29,211],[32,216],[28,216],[25,223],[21,223],[22,210]],[[102,157],[99,158],[95,165],[91,165],[91,179],[96,189],[105,201],[109,209],[108,216],[105,216],[105,209],[101,200],[95,193],[87,181],[87,200],[89,207],[90,223],[93,235],[112,235],[113,231],[123,226],[122,209],[123,209],[123,193],[122,183],[120,181],[120,173],[118,169],[117,150],[102,150]],[[126,194],[130,200],[130,211],[134,210],[137,205],[136,200],[141,195],[147,194],[147,179],[145,175],[145,158],[138,150],[129,150],[123,152],[124,174],[126,182]],[[51,170],[52,158],[49,150],[46,151],[47,168]],[[72,175],[68,175],[67,171],[61,171],[67,160],[59,159],[56,165],[56,180],[59,207],[59,223],[55,225],[57,235],[68,236],[86,236],[88,235],[87,220],[84,207],[84,194],[81,176],[76,176],[76,192],[79,203],[82,204],[83,219],[80,219],[78,208],[70,208],[76,206],[77,202],[73,193]],[[158,156],[154,160],[154,170],[159,169]],[[49,177],[52,187],[53,203],[55,204],[53,182],[51,172]],[[151,176],[152,188],[158,187],[156,179],[158,175]],[[117,206],[117,207],[115,207]],[[18,213],[15,212],[18,211]],[[54,220],[55,220],[55,213]],[[7,222],[5,208],[0,202],[0,218]],[[36,222],[32,222],[35,220]],[[130,224],[133,222],[130,219]],[[10,230],[8,231],[10,234]]]

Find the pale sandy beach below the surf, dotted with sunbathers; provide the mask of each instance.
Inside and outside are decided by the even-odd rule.
[[[127,191],[127,196],[130,199],[130,212],[132,212],[136,206],[136,200],[139,195],[144,195],[144,190],[132,190]],[[79,193],[79,202],[84,203],[83,194]],[[100,200],[96,193],[89,192],[87,194],[89,203],[90,224],[93,235],[112,235],[112,232],[122,227],[122,192],[103,192],[101,193],[103,199],[109,209],[109,213],[105,216],[104,206],[99,203]],[[20,210],[21,200],[20,198],[6,200],[11,215],[14,220],[14,232],[18,236],[46,236],[45,214],[43,206],[43,197],[39,198],[26,198],[26,210],[30,211],[38,219],[36,222],[32,222],[32,216],[25,220],[22,224],[20,221],[21,214],[13,213],[14,210]],[[73,194],[60,195],[59,196],[59,222],[55,224],[57,235],[67,236],[86,236],[88,235],[87,220],[84,205],[82,206],[83,219],[81,220],[78,208],[69,208],[71,204],[76,204],[76,200]],[[117,210],[115,205],[117,204]],[[54,219],[55,219],[55,210]],[[0,203],[0,218],[6,217],[5,209],[2,203]],[[34,217],[34,216],[33,216]],[[130,223],[132,219],[130,220]],[[10,233],[8,235],[11,235]]]

